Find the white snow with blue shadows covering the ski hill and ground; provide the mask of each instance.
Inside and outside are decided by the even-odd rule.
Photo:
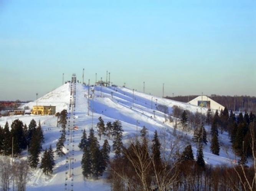
[[[56,112],[61,112],[63,109],[69,109],[70,101],[70,84],[64,84],[54,91],[38,98],[38,105],[56,105]],[[93,90],[93,91],[92,91]],[[155,130],[170,129],[173,130],[172,124],[165,121],[165,115],[162,112],[156,110],[156,104],[163,104],[168,107],[169,112],[172,111],[172,106],[177,105],[183,109],[190,110],[192,112],[201,112],[201,108],[177,102],[155,95],[144,94],[137,92],[126,87],[90,87],[89,95],[94,94],[93,98],[89,98],[89,112],[88,112],[88,86],[82,84],[76,84],[76,110],[73,113],[73,122],[79,127],[78,131],[73,133],[74,142],[74,176],[73,181],[70,179],[65,181],[67,171],[66,157],[55,156],[56,166],[52,176],[45,176],[40,169],[35,170],[32,173],[31,179],[28,181],[26,190],[27,191],[63,191],[64,188],[68,190],[90,190],[90,191],[110,191],[111,188],[104,181],[104,176],[100,177],[99,180],[84,180],[81,170],[81,158],[82,151],[79,151],[78,144],[81,140],[83,129],[89,133],[91,127],[95,127],[98,118],[101,116],[106,124],[108,121],[120,120],[124,129],[124,139],[130,135],[136,134],[137,131],[145,126],[149,129],[149,133],[153,134]],[[36,105],[36,100],[30,102],[23,107],[28,106],[33,108]],[[155,111],[155,117],[154,112]],[[206,109],[202,109],[202,113],[206,113]],[[89,115],[88,115],[89,114]],[[44,131],[45,143],[43,149],[49,148],[51,145],[53,149],[56,147],[56,142],[60,137],[60,127],[57,127],[57,118],[52,115],[37,116],[37,115],[18,115],[8,116],[0,118],[0,125],[4,126],[8,121],[9,126],[15,119],[20,119],[24,124],[29,125],[30,121],[34,119],[36,123],[41,122],[42,129]],[[207,128],[207,127],[206,127]],[[208,129],[209,131],[210,129]],[[97,135],[97,133],[95,132]],[[192,134],[186,132],[188,139],[191,139]],[[221,163],[231,163],[235,157],[230,152],[230,142],[228,135],[223,133],[220,136],[220,142],[223,145],[221,147],[220,156],[211,154],[210,144],[204,146],[204,158],[205,162],[218,165]],[[104,139],[101,139],[100,144],[103,144]],[[98,139],[99,140],[99,139]],[[209,139],[208,139],[209,140]],[[109,144],[112,145],[112,141],[108,140]],[[196,156],[197,145],[192,142],[192,149],[194,156]],[[229,154],[227,154],[227,152]],[[23,158],[26,159],[26,152],[23,154]],[[65,182],[68,186],[65,186]],[[73,186],[71,186],[73,182]]]

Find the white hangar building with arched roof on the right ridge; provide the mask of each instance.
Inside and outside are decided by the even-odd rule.
[[[211,108],[211,110],[218,110],[218,111],[220,111],[221,109],[224,110],[225,108],[223,105],[218,104],[217,102],[212,100],[210,97],[207,97],[206,95],[200,95],[195,99],[192,99],[191,101],[189,101],[188,104]]]

